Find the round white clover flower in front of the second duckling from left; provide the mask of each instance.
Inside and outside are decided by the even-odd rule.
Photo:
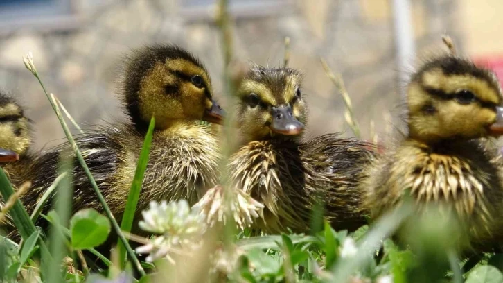
[[[143,221],[139,222],[141,229],[160,234],[150,239],[136,252],[139,254],[149,253],[147,261],[166,257],[173,248],[197,249],[202,242],[202,236],[206,231],[206,216],[201,214],[197,207],[188,207],[186,200],[159,205],[155,201],[150,202],[150,208],[141,212]],[[172,260],[172,259],[171,259]]]

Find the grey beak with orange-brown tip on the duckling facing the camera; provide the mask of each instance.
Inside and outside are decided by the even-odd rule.
[[[271,130],[280,135],[299,135],[304,130],[304,124],[293,115],[292,106],[273,107]]]

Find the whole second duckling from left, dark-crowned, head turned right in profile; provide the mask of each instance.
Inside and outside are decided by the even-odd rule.
[[[210,127],[196,123],[222,122],[223,111],[213,100],[208,72],[177,46],[146,46],[127,59],[122,90],[130,121],[100,126],[76,138],[112,214],[121,221],[151,117],[155,117],[155,130],[137,216],[150,200],[185,198],[195,203],[218,182],[218,139]],[[37,169],[30,176],[33,189],[22,198],[28,211],[55,179],[60,157],[73,157],[70,148],[62,144],[37,160]],[[77,162],[72,180],[73,210],[103,211]]]

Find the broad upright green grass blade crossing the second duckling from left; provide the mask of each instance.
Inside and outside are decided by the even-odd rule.
[[[127,196],[127,203],[125,205],[125,210],[123,218],[121,221],[121,230],[125,232],[131,232],[131,227],[134,220],[134,213],[136,212],[136,205],[138,205],[138,199],[140,197],[141,185],[143,184],[143,173],[147,169],[148,155],[150,153],[150,144],[152,144],[152,134],[154,132],[155,119],[152,117],[150,119],[150,125],[148,126],[148,132],[143,141],[143,148],[141,148],[140,157],[138,159],[138,165],[136,165],[136,171],[134,172],[134,179],[131,185],[130,194]],[[119,259],[121,259],[121,267],[126,260],[126,250],[122,243],[118,243],[118,254]]]

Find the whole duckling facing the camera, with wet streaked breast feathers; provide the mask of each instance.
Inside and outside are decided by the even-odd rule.
[[[367,144],[336,134],[303,139],[308,118],[302,76],[289,68],[251,68],[238,89],[237,121],[243,145],[230,157],[231,180],[265,205],[265,232],[308,232],[312,211],[326,202],[337,229],[366,220],[355,191]]]

